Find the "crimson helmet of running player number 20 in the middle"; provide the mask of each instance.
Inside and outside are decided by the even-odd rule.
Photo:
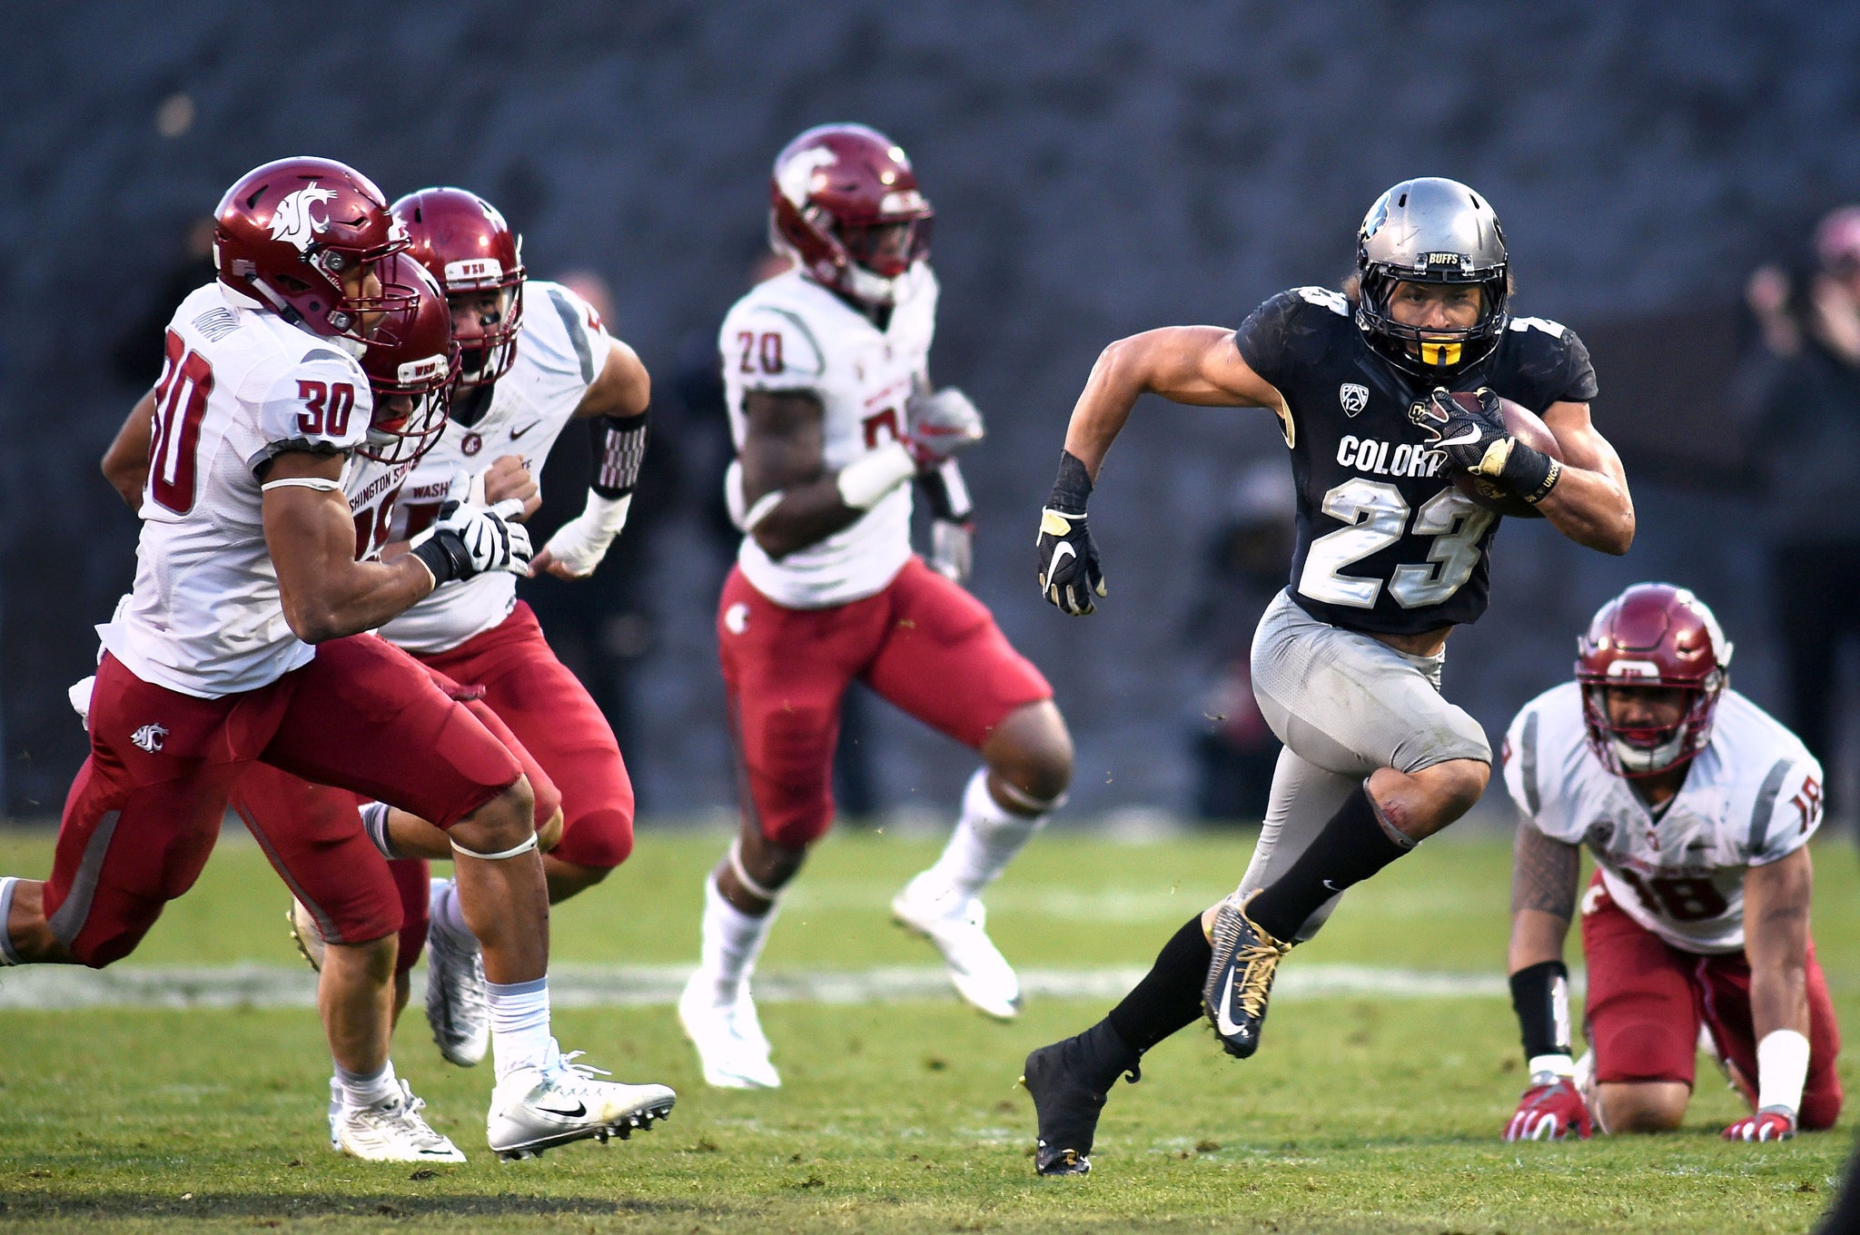
[[[930,257],[936,212],[911,160],[865,125],[818,125],[776,156],[768,242],[817,283],[869,305],[897,301],[898,277]]]

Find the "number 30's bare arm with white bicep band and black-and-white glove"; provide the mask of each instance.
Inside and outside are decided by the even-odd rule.
[[[502,511],[443,510],[413,552],[357,562],[340,476],[340,456],[305,450],[279,454],[260,476],[264,543],[285,621],[305,644],[372,631],[448,578],[528,565],[528,536],[508,521],[517,502]]]

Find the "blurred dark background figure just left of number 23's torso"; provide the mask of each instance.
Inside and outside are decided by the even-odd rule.
[[[1282,459],[1244,469],[1228,517],[1202,554],[1205,588],[1183,623],[1183,644],[1213,651],[1213,679],[1194,725],[1194,813],[1205,820],[1259,822],[1267,813],[1280,742],[1254,703],[1252,629],[1285,586],[1293,551],[1293,484]]]

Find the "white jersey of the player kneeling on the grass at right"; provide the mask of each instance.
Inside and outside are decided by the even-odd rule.
[[[1518,809],[1544,835],[1588,846],[1614,904],[1687,952],[1741,950],[1745,870],[1787,857],[1821,826],[1821,764],[1735,690],[1657,818],[1588,748],[1575,683],[1518,712],[1503,759]]]

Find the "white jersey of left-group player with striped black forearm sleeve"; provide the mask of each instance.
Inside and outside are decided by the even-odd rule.
[[[549,448],[601,376],[610,348],[601,314],[588,301],[560,283],[525,279],[517,359],[491,387],[484,417],[471,428],[454,420],[439,445],[420,458],[400,489],[392,538],[407,539],[426,530],[454,480],[482,472],[498,456],[523,456],[539,480]],[[381,638],[411,653],[450,651],[510,618],[515,604],[517,577],[493,571],[441,584],[381,627]]]

